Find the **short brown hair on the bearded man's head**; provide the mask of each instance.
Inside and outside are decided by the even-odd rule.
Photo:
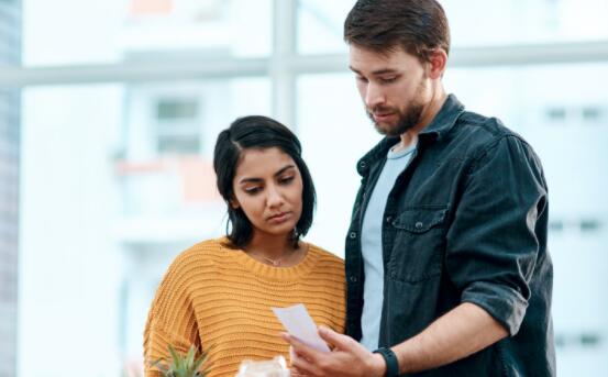
[[[424,63],[436,48],[450,53],[450,27],[435,0],[358,0],[344,21],[344,41],[380,54],[401,47]]]

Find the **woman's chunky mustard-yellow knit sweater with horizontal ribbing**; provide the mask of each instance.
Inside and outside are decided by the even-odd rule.
[[[289,347],[270,308],[305,303],[317,324],[344,332],[344,264],[310,245],[292,267],[273,267],[226,240],[210,240],[185,251],[165,274],[144,332],[146,376],[159,376],[150,363],[167,357],[167,346],[211,350],[209,376],[233,377],[244,359],[269,359]]]

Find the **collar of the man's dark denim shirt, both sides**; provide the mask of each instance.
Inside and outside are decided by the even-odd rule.
[[[438,141],[452,130],[460,114],[464,111],[464,106],[456,96],[449,95],[435,118],[429,123],[422,132],[418,134],[419,140]],[[398,136],[387,136],[383,138],[374,148],[372,148],[357,163],[357,171],[361,176],[366,176],[369,171],[369,165],[380,158],[386,157],[388,149],[399,142]]]

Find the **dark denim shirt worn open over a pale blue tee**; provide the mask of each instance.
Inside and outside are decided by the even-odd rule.
[[[365,284],[362,219],[388,148],[398,141],[384,138],[357,165],[363,178],[346,236],[346,331],[356,340]],[[546,184],[539,157],[521,136],[449,96],[419,134],[384,219],[379,346],[399,344],[472,302],[510,336],[416,376],[555,375]]]

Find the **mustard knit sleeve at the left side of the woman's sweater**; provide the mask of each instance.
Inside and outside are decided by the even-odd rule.
[[[161,358],[170,358],[169,345],[178,353],[188,352],[190,345],[200,350],[188,281],[184,264],[178,257],[165,274],[148,312],[144,330],[146,377],[161,376],[152,364]]]

